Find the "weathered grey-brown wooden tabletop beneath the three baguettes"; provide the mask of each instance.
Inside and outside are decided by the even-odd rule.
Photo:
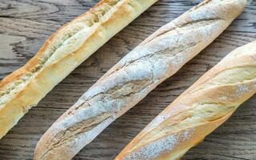
[[[23,66],[65,22],[99,0],[0,0],[0,78]],[[32,159],[36,143],[67,110],[120,58],[166,22],[199,0],[160,0],[75,69],[0,140],[0,159]],[[174,98],[238,46],[256,38],[256,0],[196,58],[142,102],[117,119],[75,159],[113,159]],[[256,159],[256,97],[244,103],[224,125],[183,159]]]

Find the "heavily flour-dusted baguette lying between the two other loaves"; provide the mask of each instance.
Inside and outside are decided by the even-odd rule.
[[[161,27],[107,72],[40,139],[35,159],[71,159],[104,128],[208,46],[244,0],[205,1]]]

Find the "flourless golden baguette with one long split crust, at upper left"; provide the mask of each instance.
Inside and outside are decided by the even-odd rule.
[[[25,66],[0,82],[0,138],[76,66],[156,0],[103,0],[61,27]]]

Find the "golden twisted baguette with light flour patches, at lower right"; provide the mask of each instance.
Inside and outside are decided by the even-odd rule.
[[[256,41],[234,50],[144,128],[116,160],[179,159],[256,93]]]

